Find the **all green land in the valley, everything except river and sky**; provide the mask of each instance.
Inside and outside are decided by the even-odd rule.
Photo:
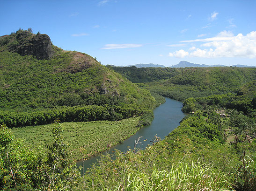
[[[42,59],[31,32],[0,37],[0,190],[255,191],[256,68],[104,67],[49,41]],[[179,127],[81,176],[71,159],[149,124],[160,95],[183,101]]]

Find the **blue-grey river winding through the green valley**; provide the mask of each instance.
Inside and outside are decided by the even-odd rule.
[[[140,138],[140,142],[142,143],[136,146],[136,148],[140,149],[145,149],[148,144],[151,144],[150,141],[152,141],[155,135],[160,137],[161,140],[164,139],[165,136],[179,125],[179,122],[185,116],[181,111],[182,102],[169,98],[165,99],[165,103],[154,109],[154,120],[151,125],[142,127],[136,134],[124,140],[123,143],[113,146],[110,150],[107,150],[102,154],[105,154],[106,152],[112,153],[116,149],[121,150],[122,152],[126,152],[129,148],[133,149],[135,140],[140,136],[142,136],[142,138]],[[96,163],[98,159],[100,159],[100,156],[91,157],[86,161],[77,162],[77,166],[83,165],[84,171],[86,171],[87,168],[90,168],[91,164]]]

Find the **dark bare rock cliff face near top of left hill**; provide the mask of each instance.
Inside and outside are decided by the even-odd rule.
[[[34,35],[26,43],[22,43],[16,51],[20,55],[34,55],[38,60],[50,59],[53,55],[51,39],[47,34]]]

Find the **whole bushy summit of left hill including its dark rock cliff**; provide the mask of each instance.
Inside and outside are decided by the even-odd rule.
[[[27,30],[0,37],[0,51],[8,50],[22,56],[33,55],[38,60],[53,56],[51,39],[47,34],[33,34]]]

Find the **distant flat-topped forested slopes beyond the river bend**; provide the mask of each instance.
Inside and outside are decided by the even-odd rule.
[[[256,68],[136,68],[110,67],[150,90],[175,100],[237,93],[241,86],[256,80]]]

